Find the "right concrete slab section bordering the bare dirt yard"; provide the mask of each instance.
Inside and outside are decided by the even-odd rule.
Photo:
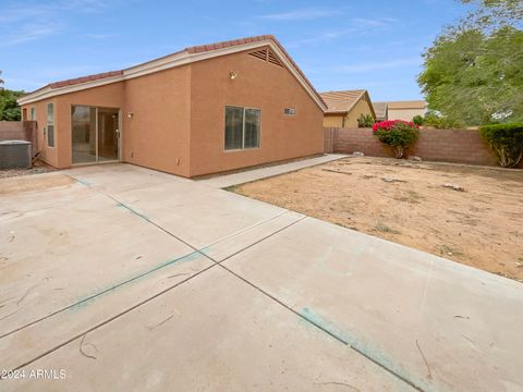
[[[523,286],[307,218],[224,267],[423,391],[523,388]]]

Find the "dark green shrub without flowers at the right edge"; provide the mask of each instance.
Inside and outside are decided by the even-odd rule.
[[[518,166],[523,156],[523,123],[486,125],[479,132],[501,167]]]

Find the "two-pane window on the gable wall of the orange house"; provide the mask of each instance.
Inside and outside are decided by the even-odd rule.
[[[226,106],[226,150],[259,147],[262,111]]]

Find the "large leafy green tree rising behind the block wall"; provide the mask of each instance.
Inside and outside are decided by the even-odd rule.
[[[521,0],[461,0],[476,9],[424,53],[418,83],[428,107],[450,122],[523,120]]]

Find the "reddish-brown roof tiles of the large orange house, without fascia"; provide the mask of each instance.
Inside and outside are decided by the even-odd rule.
[[[303,71],[297,66],[297,64],[294,62],[294,60],[292,60],[289,52],[281,46],[281,44],[278,41],[278,39],[276,39],[276,37],[272,36],[272,35],[260,35],[260,36],[255,36],[255,37],[232,39],[232,40],[228,40],[228,41],[221,41],[221,42],[209,44],[209,45],[193,46],[193,47],[188,47],[188,48],[185,48],[183,50],[180,50],[178,52],[174,52],[174,53],[171,53],[171,54],[158,58],[158,59],[154,59],[154,60],[150,60],[150,61],[131,66],[131,68],[125,69],[125,70],[104,72],[104,73],[98,73],[98,74],[94,74],[94,75],[87,75],[87,76],[75,77],[75,78],[70,78],[70,79],[65,79],[65,81],[53,82],[53,83],[50,83],[50,84],[48,84],[48,85],[46,85],[41,88],[38,88],[37,90],[32,91],[32,93],[36,93],[36,91],[39,91],[39,90],[41,90],[44,88],[48,88],[48,87],[51,88],[51,89],[54,89],[54,88],[60,88],[60,87],[65,87],[65,86],[77,85],[77,84],[82,84],[82,83],[86,83],[86,82],[99,81],[99,79],[104,79],[104,78],[108,78],[108,77],[123,75],[126,70],[131,70],[131,69],[134,69],[136,66],[150,63],[153,61],[166,59],[166,58],[169,58],[173,54],[178,54],[178,53],[182,53],[182,52],[194,54],[194,53],[208,52],[208,51],[212,51],[212,50],[224,49],[224,48],[229,48],[229,47],[234,47],[234,46],[240,46],[240,45],[245,45],[245,44],[252,44],[252,42],[266,41],[266,40],[272,40],[272,42],[278,46],[278,48],[287,56],[289,62],[294,66],[294,69],[297,71],[297,73],[303,77],[305,83],[311,87],[311,89],[317,96],[319,101],[323,102],[325,106],[327,106],[326,102],[321,99],[321,95],[316,90],[316,88],[313,86],[311,81],[305,76]]]

